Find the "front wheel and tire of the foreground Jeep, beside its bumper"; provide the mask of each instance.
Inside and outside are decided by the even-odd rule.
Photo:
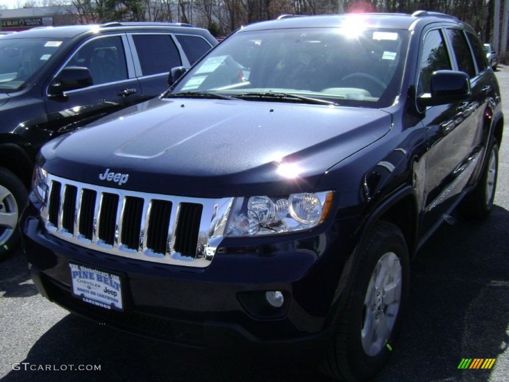
[[[387,363],[401,329],[410,279],[401,230],[380,221],[360,265],[320,370],[341,380],[373,378]]]

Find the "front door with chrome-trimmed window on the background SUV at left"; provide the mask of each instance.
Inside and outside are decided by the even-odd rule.
[[[62,68],[86,67],[93,85],[49,96],[45,91],[48,122],[57,132],[77,127],[143,100],[124,33],[99,36],[82,42]],[[61,70],[60,69],[60,70]],[[58,73],[56,73],[58,75]]]

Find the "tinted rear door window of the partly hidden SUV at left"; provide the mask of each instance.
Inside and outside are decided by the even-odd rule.
[[[132,36],[143,75],[167,73],[181,66],[179,50],[170,35]]]

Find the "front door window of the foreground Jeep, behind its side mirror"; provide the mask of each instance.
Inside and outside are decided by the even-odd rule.
[[[437,70],[450,70],[450,61],[443,36],[439,30],[426,34],[420,58],[418,93],[430,93],[431,75]]]

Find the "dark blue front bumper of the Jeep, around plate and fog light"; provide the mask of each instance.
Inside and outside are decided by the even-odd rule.
[[[180,345],[274,356],[283,352],[311,362],[322,358],[332,338],[329,318],[343,265],[341,256],[326,256],[337,255],[340,244],[332,231],[229,248],[203,269],[78,247],[46,232],[37,213],[30,204],[21,219],[34,282],[42,295],[78,315]],[[75,297],[70,262],[120,275],[124,310],[106,310]],[[281,308],[264,299],[266,291],[274,290],[284,293]]]

